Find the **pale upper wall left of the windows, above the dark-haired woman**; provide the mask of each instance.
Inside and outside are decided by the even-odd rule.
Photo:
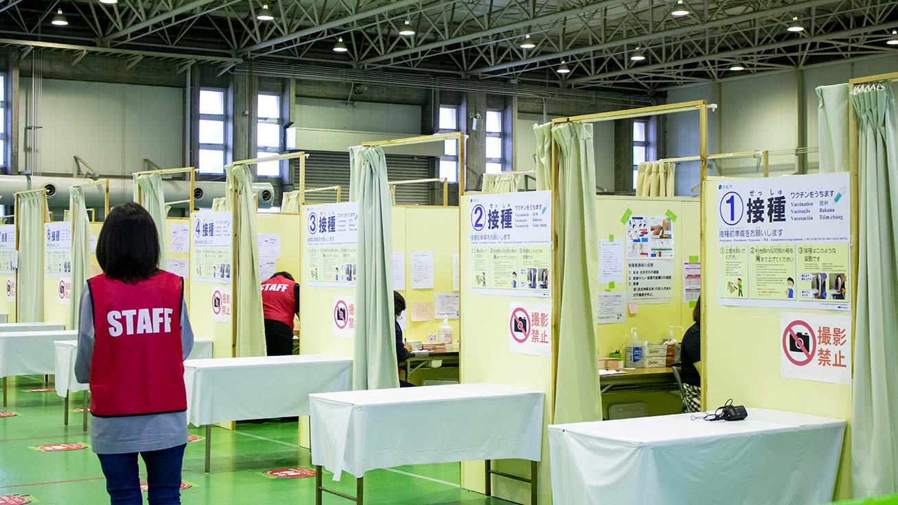
[[[31,79],[22,78],[22,130],[30,118]],[[183,90],[162,86],[45,79],[38,125],[45,172],[71,173],[75,155],[101,174],[146,170],[144,159],[182,166]],[[30,135],[20,133],[20,167]],[[28,143],[26,145],[26,143]]]

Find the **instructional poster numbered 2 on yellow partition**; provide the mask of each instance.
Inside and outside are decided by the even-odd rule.
[[[472,196],[468,218],[472,292],[550,296],[549,191]]]

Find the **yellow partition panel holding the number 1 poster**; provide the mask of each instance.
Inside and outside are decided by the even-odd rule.
[[[801,176],[795,176],[801,177]],[[702,286],[718,285],[718,183],[726,178],[709,178],[704,183],[705,268]],[[857,219],[853,217],[852,221]],[[705,325],[701,328],[703,385],[707,406],[715,408],[733,398],[736,405],[769,408],[851,419],[851,386],[811,380],[785,379],[780,375],[780,314],[820,312],[811,309],[770,309],[726,307],[718,304],[716,287],[705,292]],[[853,349],[852,349],[853,351]],[[836,500],[851,497],[850,431],[845,433],[841,467],[836,483]]]

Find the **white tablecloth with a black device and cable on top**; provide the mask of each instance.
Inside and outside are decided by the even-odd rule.
[[[549,427],[552,501],[565,505],[829,503],[845,422],[748,409]]]

